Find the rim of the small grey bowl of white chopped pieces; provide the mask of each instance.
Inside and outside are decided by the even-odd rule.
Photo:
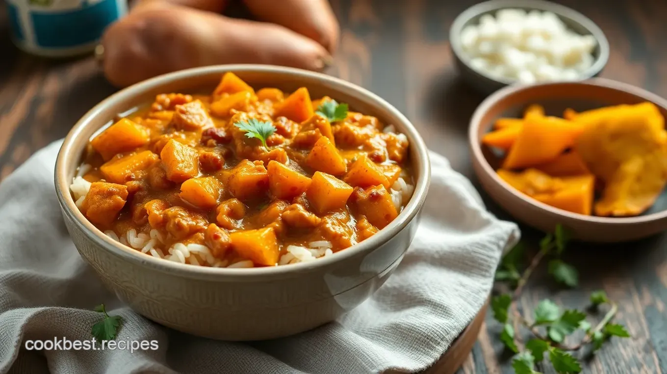
[[[584,27],[584,29],[587,29],[588,32],[590,32],[590,34],[598,42],[598,45],[600,47],[600,55],[595,59],[593,64],[580,75],[580,77],[576,81],[582,81],[594,77],[596,74],[600,73],[600,71],[602,71],[602,69],[604,69],[604,67],[607,65],[610,55],[609,41],[606,35],[604,35],[604,31],[602,31],[602,29],[595,22],[593,22],[592,19],[586,17],[582,13],[570,7],[566,7],[565,5],[560,5],[558,3],[552,3],[550,1],[544,1],[544,0],[489,0],[489,1],[484,1],[483,3],[472,5],[472,7],[469,7],[468,9],[462,11],[462,13],[460,13],[456,17],[456,19],[454,19],[454,22],[452,22],[452,26],[450,27],[449,41],[450,41],[450,46],[454,51],[454,55],[456,55],[456,58],[462,63],[464,63],[464,65],[466,65],[466,67],[468,67],[468,69],[472,70],[474,73],[480,75],[481,77],[494,81],[496,83],[502,83],[504,85],[512,85],[514,83],[518,83],[518,81],[516,80],[492,77],[491,75],[488,75],[483,71],[478,71],[478,69],[474,69],[474,67],[470,65],[470,57],[468,57],[466,52],[463,51],[461,46],[460,35],[466,22],[470,21],[470,19],[478,15],[508,8],[519,8],[519,9],[531,8],[531,9],[539,9],[540,11],[550,11],[552,13],[555,13],[559,18],[566,17],[572,19],[572,21],[578,23],[581,27]]]

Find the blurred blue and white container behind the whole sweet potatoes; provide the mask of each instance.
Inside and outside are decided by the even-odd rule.
[[[104,29],[127,13],[127,0],[6,0],[14,43],[45,57],[95,49]]]

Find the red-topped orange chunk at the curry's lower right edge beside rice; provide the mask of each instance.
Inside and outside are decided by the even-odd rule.
[[[371,186],[365,190],[355,188],[352,199],[356,202],[359,213],[366,216],[368,222],[379,229],[390,224],[398,216],[392,195],[382,185]]]

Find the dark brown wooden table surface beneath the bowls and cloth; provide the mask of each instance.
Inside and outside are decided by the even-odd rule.
[[[466,141],[468,120],[484,99],[454,70],[448,29],[472,0],[333,0],[342,24],[336,66],[328,73],[371,89],[420,130],[428,146],[475,181]],[[598,23],[611,44],[603,77],[667,96],[667,1],[560,1]],[[0,179],[115,91],[91,58],[47,61],[20,53],[0,11]],[[492,211],[508,218],[495,204]],[[540,235],[524,228],[526,238]],[[586,373],[667,373],[667,235],[629,244],[580,244],[568,260],[582,270],[581,286],[558,291],[544,272],[526,289],[526,310],[545,297],[582,307],[604,289],[618,301],[618,321],[632,339],[614,339],[590,358]],[[585,270],[584,270],[585,269]],[[490,316],[459,373],[512,373]],[[553,373],[550,369],[545,373]]]

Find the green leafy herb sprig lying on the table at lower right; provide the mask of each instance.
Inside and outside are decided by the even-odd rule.
[[[554,233],[547,234],[540,240],[540,250],[532,258],[530,264],[521,272],[525,258],[526,245],[518,244],[506,254],[496,271],[496,280],[506,282],[514,289],[511,294],[505,293],[494,297],[491,309],[494,318],[502,324],[500,341],[505,347],[516,353],[512,360],[512,367],[517,374],[540,374],[536,366],[545,357],[551,362],[558,373],[580,373],[580,363],[570,352],[578,351],[590,344],[593,351],[602,347],[611,337],[630,337],[624,326],[612,323],[618,311],[615,303],[610,301],[604,291],[595,291],[590,295],[593,309],[608,305],[609,310],[602,321],[592,327],[586,320],[586,314],[576,309],[561,311],[560,307],[548,299],[540,301],[532,313],[530,322],[514,305],[521,295],[521,291],[528,282],[528,278],[544,258],[549,258],[548,272],[557,283],[567,287],[576,287],[579,283],[579,273],[574,266],[562,260],[561,255],[570,241],[570,233],[563,226],[556,226]],[[512,313],[510,313],[510,311]],[[516,339],[516,323],[528,329],[534,339],[525,344],[525,350],[520,349]],[[566,344],[566,338],[576,331],[584,331],[584,337],[575,345]],[[515,336],[517,335],[517,336]]]

